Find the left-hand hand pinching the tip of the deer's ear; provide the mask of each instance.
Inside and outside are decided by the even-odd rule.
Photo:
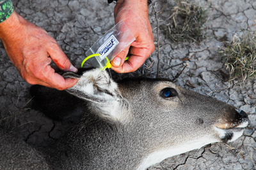
[[[56,69],[77,72],[58,43],[44,29],[28,22],[13,11],[0,23],[0,39],[10,60],[19,70],[20,76],[30,84],[39,84],[58,90],[68,89],[77,79],[63,78],[49,65],[51,60]]]

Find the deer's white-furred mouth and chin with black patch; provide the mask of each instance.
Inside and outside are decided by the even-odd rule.
[[[245,127],[248,125],[248,118],[239,125],[216,125],[214,130],[218,132],[223,143],[232,142],[243,135]],[[221,128],[224,127],[224,128]]]

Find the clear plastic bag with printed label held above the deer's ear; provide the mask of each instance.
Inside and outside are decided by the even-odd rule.
[[[121,20],[93,44],[86,52],[86,56],[99,53],[100,56],[92,57],[90,62],[92,62],[94,67],[104,69],[118,53],[122,52],[134,40],[132,32],[125,25],[124,21]]]

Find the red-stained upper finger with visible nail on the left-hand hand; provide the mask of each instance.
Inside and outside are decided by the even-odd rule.
[[[65,53],[60,49],[57,43],[49,46],[47,48],[47,52],[51,56],[53,62],[63,71],[73,71],[77,72],[77,68],[74,67],[71,62],[68,60],[68,57]]]

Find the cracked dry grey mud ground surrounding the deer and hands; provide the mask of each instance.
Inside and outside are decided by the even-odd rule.
[[[157,2],[157,10],[164,4],[173,1]],[[194,90],[200,94],[215,97],[220,101],[232,104],[246,111],[250,125],[244,135],[228,145],[212,143],[199,150],[193,150],[181,155],[170,157],[148,169],[256,169],[256,79],[241,81],[224,81],[220,70],[225,71],[224,60],[218,54],[218,46],[224,35],[228,40],[239,30],[255,31],[256,2],[253,0],[200,0],[198,3],[207,9],[209,15],[205,24],[207,38],[198,43],[173,43],[160,33],[160,73],[164,78],[173,78],[185,64],[189,64],[177,84]],[[84,53],[93,43],[115,25],[113,8],[115,4],[107,1],[71,1],[71,0],[13,0],[15,10],[30,22],[43,27],[58,41],[74,66],[79,67],[84,59]],[[150,8],[150,7],[149,7]],[[156,19],[152,9],[149,10],[156,39]],[[159,18],[170,16],[170,8],[164,8]],[[160,24],[166,24],[160,22]],[[3,44],[0,43],[0,113],[5,118],[2,126],[24,141],[32,145],[48,146],[54,143],[72,124],[56,122],[45,117],[36,108],[31,108],[30,85],[20,78],[17,69],[8,59]],[[169,68],[182,62],[183,64]],[[148,76],[155,77],[157,70],[157,50],[147,59],[144,69],[150,67]],[[86,64],[89,66],[89,64]],[[135,73],[118,75],[138,76],[142,69]],[[113,73],[113,72],[112,72]],[[114,74],[114,73],[113,73]],[[189,76],[193,74],[193,76]],[[118,77],[116,76],[116,77]],[[190,82],[195,88],[190,87]],[[3,124],[4,123],[4,124]]]

